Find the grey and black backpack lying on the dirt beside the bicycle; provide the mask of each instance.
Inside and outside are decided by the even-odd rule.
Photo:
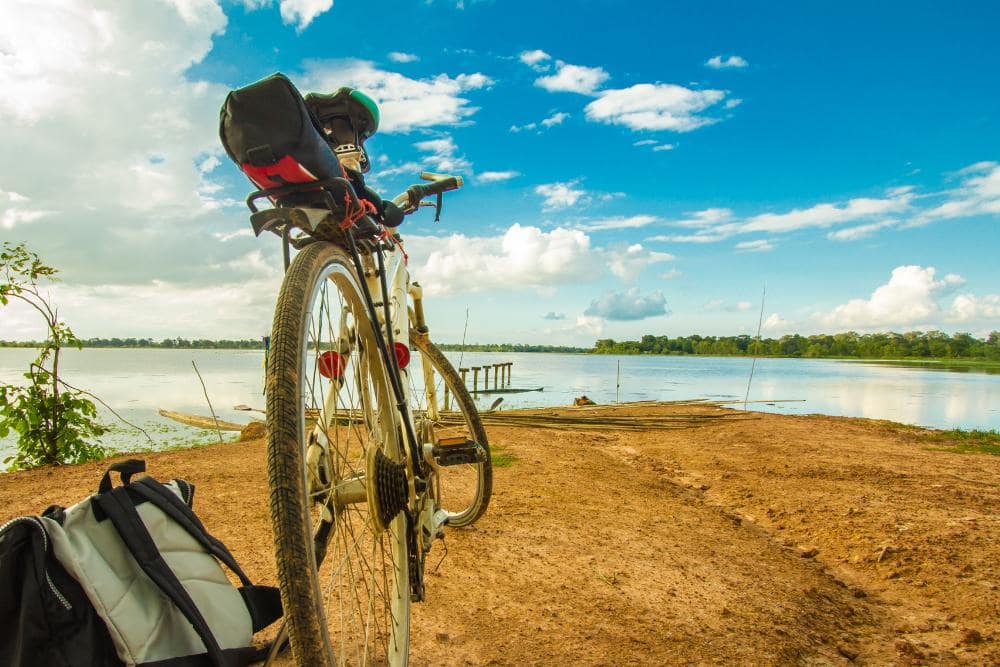
[[[191,509],[191,484],[131,481],[145,467],[115,463],[97,494],[0,526],[0,664],[221,667],[263,659],[253,634],[281,616],[277,589],[253,585],[208,533]],[[112,486],[112,472],[121,486]]]

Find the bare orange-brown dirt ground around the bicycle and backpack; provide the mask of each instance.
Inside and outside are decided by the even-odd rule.
[[[486,516],[449,532],[413,664],[1000,664],[1000,457],[761,413],[489,435],[515,460]],[[274,583],[262,441],[143,456],[192,481],[209,529]],[[105,466],[0,475],[0,515],[74,502]]]

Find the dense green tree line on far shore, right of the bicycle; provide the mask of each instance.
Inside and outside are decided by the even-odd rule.
[[[838,334],[781,338],[752,336],[653,336],[641,340],[616,341],[602,338],[594,345],[597,354],[705,354],[764,357],[847,357],[857,359],[990,359],[1000,361],[1000,332],[986,338],[969,333],[948,335],[941,331]]]

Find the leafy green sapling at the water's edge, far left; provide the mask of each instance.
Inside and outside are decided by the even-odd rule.
[[[0,437],[12,430],[18,434],[17,454],[4,463],[16,470],[103,458],[104,448],[92,442],[106,431],[97,421],[97,409],[59,377],[62,349],[82,344],[39,289],[39,281],[56,280],[56,270],[23,243],[4,242],[0,272],[0,306],[12,300],[25,303],[48,328],[48,338],[24,374],[27,386],[0,384]]]

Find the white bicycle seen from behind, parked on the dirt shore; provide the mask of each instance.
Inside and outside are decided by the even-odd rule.
[[[254,232],[281,237],[286,269],[265,390],[286,617],[272,657],[287,634],[298,664],[403,665],[427,553],[445,526],[486,511],[492,465],[475,403],[430,340],[401,238],[340,173],[265,179],[274,187],[247,198]],[[429,196],[440,215],[462,186],[421,177],[393,200],[404,216]],[[265,198],[274,208],[257,208]]]

